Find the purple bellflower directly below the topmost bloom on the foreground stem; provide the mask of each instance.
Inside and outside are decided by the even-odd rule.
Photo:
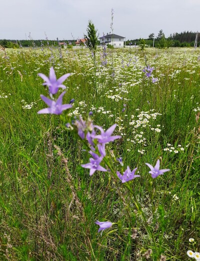
[[[65,91],[62,92],[56,101],[53,101],[42,94],[40,95],[41,99],[49,106],[49,108],[42,109],[38,111],[38,114],[42,113],[51,113],[51,114],[61,114],[63,110],[69,109],[72,107],[71,104],[62,104],[62,96],[64,95]]]

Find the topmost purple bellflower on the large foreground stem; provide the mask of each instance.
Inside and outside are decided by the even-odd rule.
[[[52,95],[57,93],[58,88],[63,88],[63,89],[66,88],[66,86],[64,86],[62,82],[66,80],[68,76],[70,76],[70,73],[66,73],[62,75],[59,79],[56,79],[55,71],[53,67],[51,67],[49,72],[49,78],[43,73],[38,73],[37,75],[39,75],[45,81],[43,85],[48,86],[49,94]]]

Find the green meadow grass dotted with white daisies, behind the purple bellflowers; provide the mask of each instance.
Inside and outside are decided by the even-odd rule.
[[[37,73],[51,66],[57,78],[71,73],[63,103],[75,102],[60,118],[37,114],[47,94]],[[88,49],[1,52],[0,260],[179,261],[200,251],[199,72],[198,48],[99,49],[96,64]],[[80,166],[89,155],[62,120],[89,111],[103,129],[117,124],[108,159],[121,173],[137,167],[134,196]],[[157,159],[170,172],[151,179],[145,163]],[[96,220],[116,224],[100,236]]]

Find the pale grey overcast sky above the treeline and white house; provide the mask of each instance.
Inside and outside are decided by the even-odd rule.
[[[200,31],[200,0],[0,0],[0,39],[76,39],[91,19],[99,37],[110,32],[126,39]]]

